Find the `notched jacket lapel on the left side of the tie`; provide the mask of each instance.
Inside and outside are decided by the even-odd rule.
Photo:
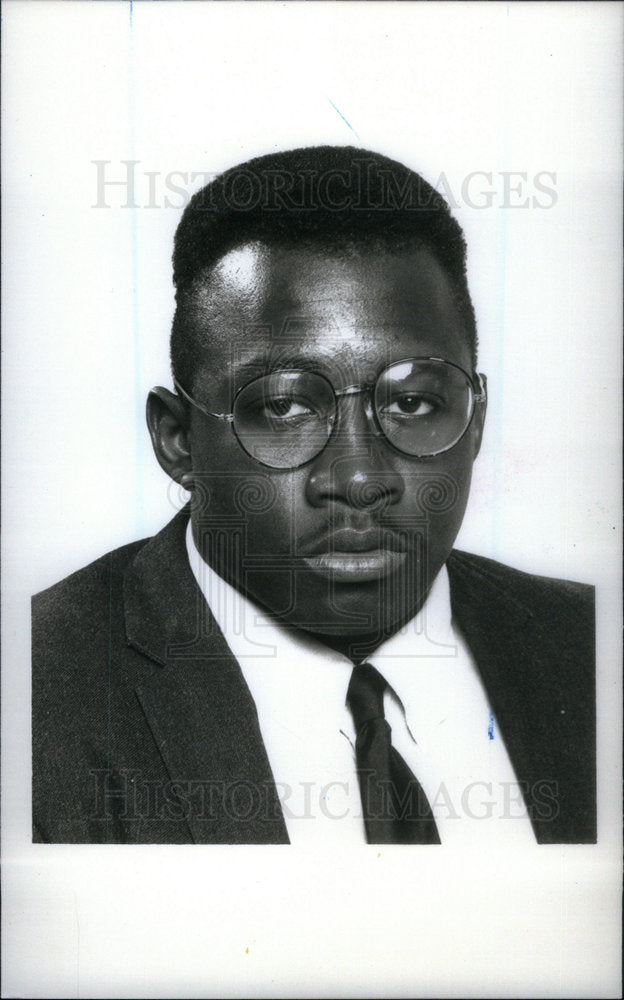
[[[161,667],[137,696],[196,843],[288,843],[256,706],[188,565],[187,521],[126,574],[128,642]]]

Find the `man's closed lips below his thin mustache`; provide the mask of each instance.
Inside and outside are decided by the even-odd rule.
[[[308,569],[334,583],[366,583],[395,573],[405,563],[403,541],[382,528],[340,528],[304,557]]]

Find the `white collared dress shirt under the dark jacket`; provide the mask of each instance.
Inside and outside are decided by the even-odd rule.
[[[294,844],[364,844],[352,662],[269,620],[186,545],[191,569],[256,704]],[[535,842],[514,770],[472,656],[451,620],[446,567],[420,612],[367,658],[389,688],[392,743],[418,778],[443,844]]]

